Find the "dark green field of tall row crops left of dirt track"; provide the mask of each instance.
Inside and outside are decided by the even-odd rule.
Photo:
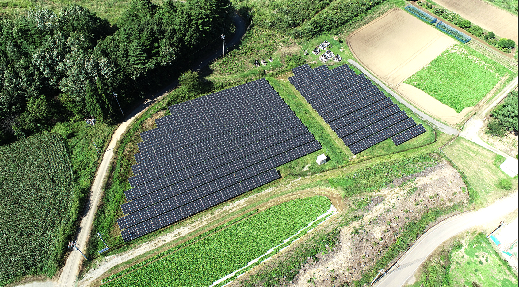
[[[60,135],[0,147],[0,286],[56,273],[77,218],[77,190]]]

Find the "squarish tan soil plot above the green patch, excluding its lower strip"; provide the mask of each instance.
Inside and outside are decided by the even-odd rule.
[[[392,86],[400,85],[454,43],[399,8],[348,36],[354,56]]]

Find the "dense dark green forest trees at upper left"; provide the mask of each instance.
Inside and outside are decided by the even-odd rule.
[[[171,75],[230,22],[228,0],[133,0],[117,25],[87,8],[34,8],[0,22],[0,141],[58,121],[100,121]],[[115,107],[115,108],[114,108]],[[115,110],[117,109],[117,110]]]

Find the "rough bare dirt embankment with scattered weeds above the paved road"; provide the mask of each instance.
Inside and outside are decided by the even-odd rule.
[[[459,173],[446,163],[415,176],[420,177],[394,181],[411,180],[402,187],[380,190],[362,220],[340,231],[340,247],[317,263],[309,260],[292,286],[337,286],[358,280],[397,241],[400,228],[407,222],[418,220],[430,209],[468,201]]]

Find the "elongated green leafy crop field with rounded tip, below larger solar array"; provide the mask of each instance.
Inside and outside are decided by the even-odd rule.
[[[329,208],[323,196],[281,203],[103,285],[210,286],[283,244]]]

